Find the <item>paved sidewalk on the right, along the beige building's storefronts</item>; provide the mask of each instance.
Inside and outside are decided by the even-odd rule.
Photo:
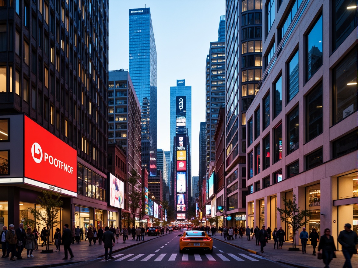
[[[235,237],[235,236],[234,236]],[[252,236],[251,236],[252,237]],[[269,240],[269,243],[266,244],[264,248],[264,253],[260,252],[260,246],[255,245],[256,239],[251,239],[247,241],[247,236],[244,235],[243,238],[239,239],[239,235],[237,235],[237,239],[234,240],[224,240],[224,236],[221,236],[221,233],[216,233],[216,235],[212,236],[213,239],[223,241],[224,243],[231,244],[237,248],[255,253],[266,259],[273,260],[275,262],[280,262],[288,265],[292,265],[294,267],[300,268],[310,268],[310,267],[324,267],[323,260],[317,259],[317,256],[313,256],[313,248],[310,245],[307,245],[306,251],[307,254],[302,254],[302,251],[292,252],[289,251],[288,248],[292,246],[290,241],[285,241],[282,249],[274,249],[274,240]],[[297,247],[297,246],[296,246]],[[337,245],[336,245],[337,247]],[[301,249],[301,247],[299,247]],[[316,253],[318,252],[318,247],[316,248]],[[329,264],[330,268],[342,268],[345,259],[341,251],[336,252],[337,258],[333,259]],[[358,267],[358,257],[357,255],[353,255],[352,257],[352,267]]]

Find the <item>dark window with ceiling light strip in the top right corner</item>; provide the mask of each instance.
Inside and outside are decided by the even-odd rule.
[[[332,49],[334,51],[357,27],[357,2],[355,0],[333,0],[332,9]]]

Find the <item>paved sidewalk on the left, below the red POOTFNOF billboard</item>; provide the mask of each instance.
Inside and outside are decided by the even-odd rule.
[[[169,234],[169,232],[168,232]],[[137,244],[140,243],[146,243],[149,240],[160,238],[161,236],[166,235],[165,233],[163,235],[158,236],[144,236],[144,241],[136,241],[132,240],[132,236],[129,235],[129,240],[126,240],[126,243],[123,243],[123,236],[119,236],[118,238],[118,244],[116,241],[115,246],[113,247],[113,253],[118,252],[123,249],[134,247]],[[51,245],[52,244],[52,245]],[[61,245],[60,252],[55,252],[56,246],[53,245],[53,243],[50,243],[50,248],[53,249],[53,253],[41,253],[42,249],[46,249],[45,245],[44,247],[41,247],[39,245],[38,251],[34,251],[32,254],[35,256],[34,258],[28,258],[26,255],[26,249],[23,250],[21,253],[21,257],[23,259],[16,260],[15,262],[10,261],[11,253],[9,258],[0,258],[0,268],[35,268],[35,267],[56,267],[61,265],[68,265],[78,262],[84,262],[88,260],[97,259],[99,257],[103,257],[105,255],[105,248],[102,243],[102,245],[98,245],[98,240],[96,242],[96,245],[89,246],[88,240],[84,241],[81,240],[81,243],[79,244],[71,244],[72,253],[74,255],[73,259],[70,259],[71,256],[68,255],[68,260],[63,260],[64,258],[64,250],[63,245]],[[15,258],[16,259],[16,258]]]

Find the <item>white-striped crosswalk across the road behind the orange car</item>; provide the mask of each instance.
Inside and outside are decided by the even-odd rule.
[[[256,254],[245,254],[245,253],[216,253],[216,254],[178,254],[178,253],[161,253],[161,254],[117,254],[112,256],[114,259],[101,260],[101,262],[134,262],[134,261],[251,261],[258,262],[265,258]]]

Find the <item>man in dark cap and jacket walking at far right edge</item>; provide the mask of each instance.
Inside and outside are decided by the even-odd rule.
[[[352,259],[354,253],[357,253],[355,245],[358,244],[358,236],[355,231],[351,230],[351,228],[352,225],[346,223],[344,225],[344,230],[340,231],[338,235],[338,243],[342,245],[342,252],[345,258],[343,268],[352,268],[350,259]]]

